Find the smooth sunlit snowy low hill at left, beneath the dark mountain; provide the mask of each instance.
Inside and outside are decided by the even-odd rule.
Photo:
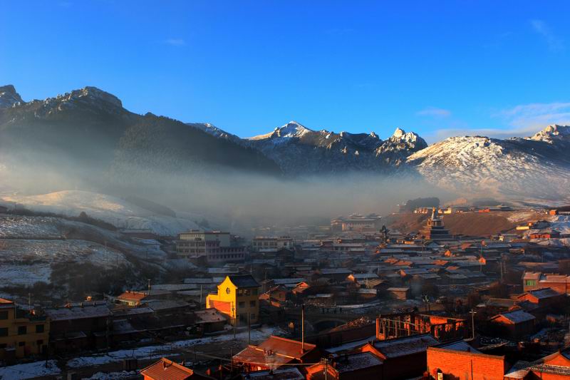
[[[11,195],[0,197],[0,205],[14,205],[38,212],[53,212],[78,216],[86,212],[90,217],[111,223],[118,228],[145,228],[158,235],[174,236],[180,232],[199,228],[187,218],[157,215],[142,207],[96,192],[66,190],[42,195]]]

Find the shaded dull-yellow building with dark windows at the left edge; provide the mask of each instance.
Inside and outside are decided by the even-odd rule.
[[[17,309],[0,298],[0,359],[43,354],[48,347],[49,319]]]

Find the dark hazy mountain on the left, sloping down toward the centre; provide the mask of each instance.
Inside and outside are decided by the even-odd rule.
[[[27,103],[13,86],[0,88],[0,166],[66,173],[91,184],[133,170],[281,173],[257,150],[177,120],[131,113],[95,87]]]

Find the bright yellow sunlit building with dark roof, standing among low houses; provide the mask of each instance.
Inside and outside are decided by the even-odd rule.
[[[251,274],[227,276],[217,294],[208,294],[206,307],[226,314],[231,324],[247,326],[259,321],[259,284]]]

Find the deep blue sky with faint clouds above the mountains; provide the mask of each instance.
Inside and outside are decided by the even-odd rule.
[[[83,86],[242,137],[570,123],[568,1],[6,1],[0,83]]]

